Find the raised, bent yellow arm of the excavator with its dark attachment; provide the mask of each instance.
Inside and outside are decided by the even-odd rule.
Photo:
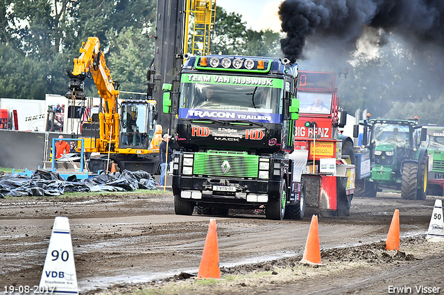
[[[100,140],[96,141],[99,152],[114,151],[119,146],[119,114],[117,97],[119,83],[112,80],[105,57],[99,50],[99,38],[89,37],[80,48],[80,57],[74,59],[73,71],[67,71],[69,91],[65,97],[85,100],[85,78],[92,76],[101,97],[99,112]]]

